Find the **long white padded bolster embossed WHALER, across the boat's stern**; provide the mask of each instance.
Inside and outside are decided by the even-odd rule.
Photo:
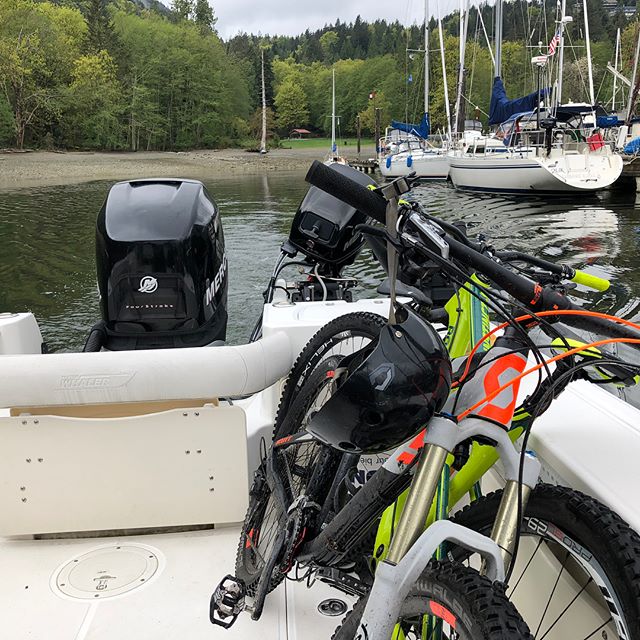
[[[294,355],[277,331],[241,346],[0,356],[0,407],[248,395],[284,377]]]

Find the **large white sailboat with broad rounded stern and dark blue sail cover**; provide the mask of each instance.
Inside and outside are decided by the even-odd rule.
[[[562,105],[562,57],[566,0],[547,55],[532,63],[546,68],[559,50],[558,82],[551,109],[542,110],[538,91],[507,99],[501,78],[502,0],[496,4],[495,79],[490,125],[500,125],[491,137],[476,138],[449,157],[449,176],[458,189],[497,193],[593,193],[613,184],[622,172],[622,158],[596,134],[593,107]],[[588,123],[591,122],[589,125]]]

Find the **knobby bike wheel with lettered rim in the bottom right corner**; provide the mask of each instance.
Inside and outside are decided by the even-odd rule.
[[[452,520],[488,535],[501,495],[480,498]],[[538,640],[637,640],[640,537],[594,498],[540,484],[527,504],[506,595]]]

